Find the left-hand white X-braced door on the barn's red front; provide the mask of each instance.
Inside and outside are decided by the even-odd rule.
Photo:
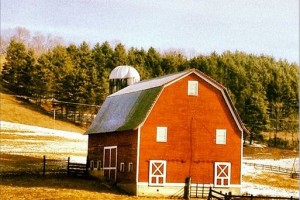
[[[162,170],[160,170],[162,167]],[[154,172],[153,172],[154,170]],[[156,174],[158,173],[158,174]],[[149,186],[164,186],[167,177],[167,161],[165,160],[150,160],[149,162]],[[152,179],[155,179],[152,182]],[[160,183],[162,179],[162,183]]]

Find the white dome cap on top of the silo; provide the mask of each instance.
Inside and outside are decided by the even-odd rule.
[[[114,68],[110,75],[109,79],[127,79],[134,78],[136,81],[140,81],[140,74],[131,66],[121,65]]]

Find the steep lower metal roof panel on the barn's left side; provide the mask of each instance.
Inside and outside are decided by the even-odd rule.
[[[86,134],[131,130],[146,118],[162,87],[109,96]]]

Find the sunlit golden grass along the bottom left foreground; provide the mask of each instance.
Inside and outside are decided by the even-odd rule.
[[[168,199],[135,197],[108,188],[95,179],[71,177],[7,176],[0,177],[1,199]]]

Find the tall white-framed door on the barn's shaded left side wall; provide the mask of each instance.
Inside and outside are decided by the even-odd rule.
[[[117,180],[117,146],[104,147],[103,151],[104,177],[111,181]]]

